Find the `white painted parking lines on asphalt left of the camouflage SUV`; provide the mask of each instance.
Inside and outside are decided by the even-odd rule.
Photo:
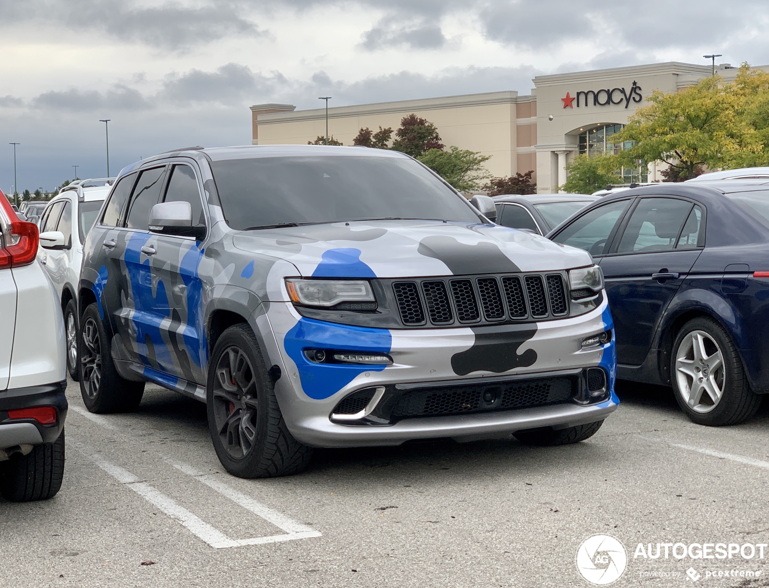
[[[124,437],[131,437],[130,435],[118,430],[117,427],[112,426],[112,424],[109,423],[109,420],[105,417],[102,417],[98,414],[92,414],[88,412],[88,410],[85,410],[81,407],[70,406],[70,409],[74,410],[82,417],[91,420],[93,423],[100,425],[101,427],[116,431],[118,434]],[[286,531],[286,533],[283,535],[251,537],[249,539],[231,539],[230,537],[227,537],[225,533],[221,533],[221,531],[211,527],[211,525],[206,523],[205,520],[202,520],[200,517],[191,513],[184,507],[179,506],[175,500],[165,496],[165,494],[161,493],[155,487],[151,487],[148,483],[139,481],[138,477],[136,477],[133,473],[115,465],[114,463],[109,463],[98,453],[93,453],[92,450],[85,450],[85,446],[82,446],[81,443],[77,444],[80,446],[79,449],[82,450],[82,453],[94,460],[98,467],[101,467],[102,470],[105,470],[105,472],[114,477],[115,480],[125,484],[126,487],[130,488],[135,493],[138,493],[139,496],[154,504],[155,507],[158,507],[158,509],[160,509],[163,513],[167,514],[172,519],[178,520],[178,522],[190,530],[191,533],[195,534],[195,536],[199,539],[204,540],[205,543],[208,543],[208,545],[211,547],[220,549],[222,547],[260,545],[262,543],[278,543],[281,541],[310,539],[311,537],[322,537],[323,535],[323,533],[320,531],[312,529],[305,524],[299,523],[290,517],[286,517],[284,514],[278,513],[277,511],[272,510],[270,507],[266,507],[264,504],[261,504],[246,494],[235,490],[235,488],[228,486],[228,484],[222,482],[221,480],[212,479],[215,474],[201,472],[187,464],[174,463],[170,458],[163,457],[166,463],[171,464],[177,470],[186,473],[188,476],[194,477],[195,480],[204,483],[206,486],[210,487],[211,490],[215,490],[222,496],[232,500],[232,502],[238,504],[238,506],[243,507],[245,510],[250,510],[251,513],[254,513],[258,517],[268,521],[268,523],[271,523],[275,525],[275,527]]]

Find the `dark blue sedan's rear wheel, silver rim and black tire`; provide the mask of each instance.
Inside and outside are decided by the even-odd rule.
[[[671,354],[671,384],[681,410],[701,425],[738,424],[761,405],[761,396],[747,382],[737,346],[709,317],[694,318],[678,332]]]

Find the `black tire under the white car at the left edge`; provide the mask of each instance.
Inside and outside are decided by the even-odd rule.
[[[64,430],[53,443],[35,445],[26,455],[16,453],[0,463],[0,493],[5,500],[48,500],[62,487]]]

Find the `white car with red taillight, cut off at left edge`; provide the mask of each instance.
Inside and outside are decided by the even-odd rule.
[[[64,321],[37,250],[0,192],[0,493],[14,501],[54,496],[64,473]]]

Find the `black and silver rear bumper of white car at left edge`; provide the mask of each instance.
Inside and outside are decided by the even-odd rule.
[[[66,380],[30,386],[12,388],[0,392],[0,450],[16,445],[35,445],[53,443],[62,434],[67,417],[67,398],[64,391]],[[35,419],[9,419],[8,410],[22,408],[54,407],[57,419],[53,424],[40,424]]]

